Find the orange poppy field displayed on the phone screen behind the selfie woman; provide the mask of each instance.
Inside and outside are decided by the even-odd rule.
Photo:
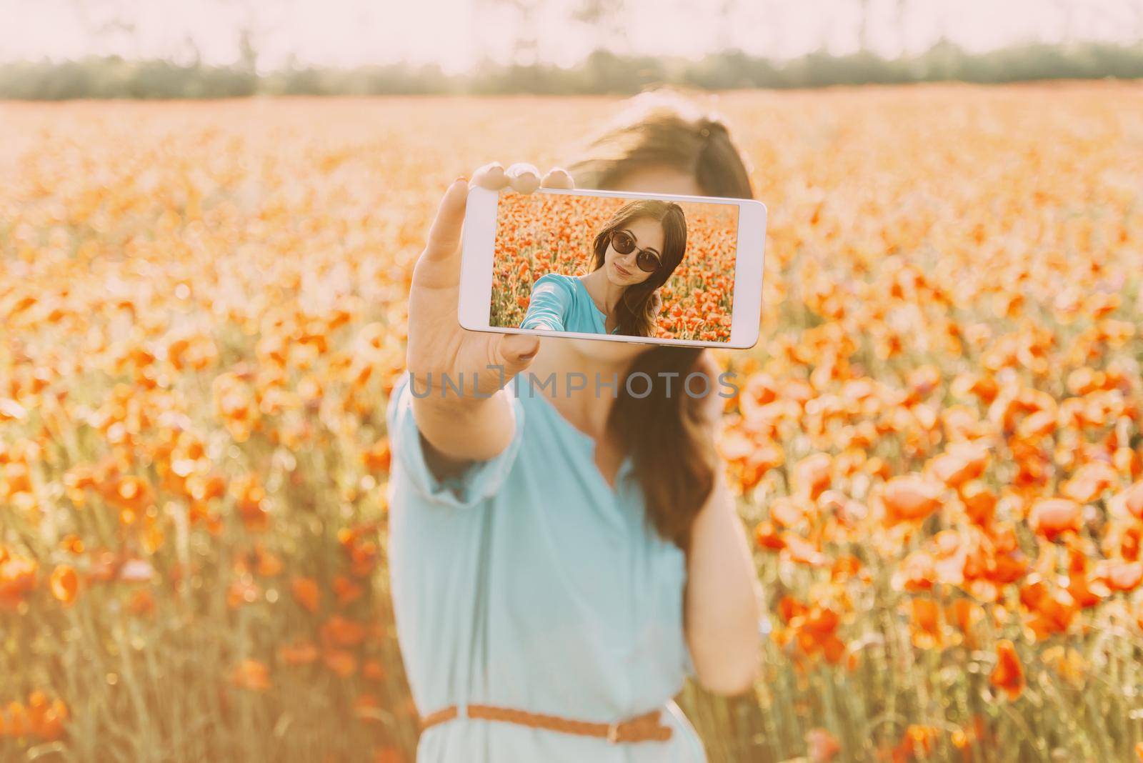
[[[489,324],[520,326],[539,276],[590,273],[596,235],[624,203],[624,199],[608,196],[504,192],[496,218]],[[663,305],[654,336],[729,342],[737,209],[694,202],[681,207],[687,249],[658,290]]]

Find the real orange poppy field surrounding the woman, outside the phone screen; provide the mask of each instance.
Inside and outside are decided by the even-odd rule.
[[[413,763],[411,266],[454,177],[617,101],[0,104],[0,762]],[[1143,760],[1143,87],[717,105],[769,210],[761,339],[710,351],[768,626],[679,698],[710,760]]]

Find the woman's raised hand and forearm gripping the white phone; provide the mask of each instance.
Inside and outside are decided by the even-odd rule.
[[[541,185],[574,187],[566,170],[552,169],[541,180],[536,168],[522,162],[507,171],[499,162],[485,164],[473,175],[472,185],[494,191],[511,186],[518,193],[531,193]],[[507,445],[511,405],[497,393],[539,350],[535,336],[461,328],[461,231],[469,187],[457,178],[445,192],[413,268],[406,351],[417,426],[440,455],[454,460],[491,458]],[[443,385],[446,377],[454,387]]]

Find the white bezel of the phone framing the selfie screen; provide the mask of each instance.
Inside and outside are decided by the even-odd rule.
[[[621,199],[662,199],[697,203],[732,203],[738,207],[738,249],[735,252],[734,298],[732,299],[730,339],[728,342],[698,339],[668,339],[658,337],[630,337],[581,331],[552,331],[549,329],[520,329],[489,326],[493,291],[493,260],[496,243],[496,208],[504,188],[493,191],[482,186],[469,188],[462,231],[461,289],[457,320],[470,331],[495,334],[533,334],[536,336],[628,342],[682,347],[722,347],[746,350],[758,344],[762,306],[762,265],[766,257],[766,204],[754,199],[726,196],[689,196],[665,193],[632,193],[594,188],[537,188],[533,193],[561,195],[616,196]],[[753,252],[757,251],[757,256]],[[743,288],[746,287],[746,288]]]

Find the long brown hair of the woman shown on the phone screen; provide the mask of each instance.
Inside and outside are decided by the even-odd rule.
[[[673,201],[639,199],[616,209],[612,218],[596,234],[591,270],[598,271],[604,266],[607,247],[612,243],[612,233],[626,227],[631,220],[640,217],[649,217],[663,226],[663,251],[658,252],[662,266],[644,281],[624,289],[616,310],[620,314],[620,334],[649,337],[655,334],[655,318],[657,318],[652,296],[671,278],[687,250],[687,216],[682,207]]]

